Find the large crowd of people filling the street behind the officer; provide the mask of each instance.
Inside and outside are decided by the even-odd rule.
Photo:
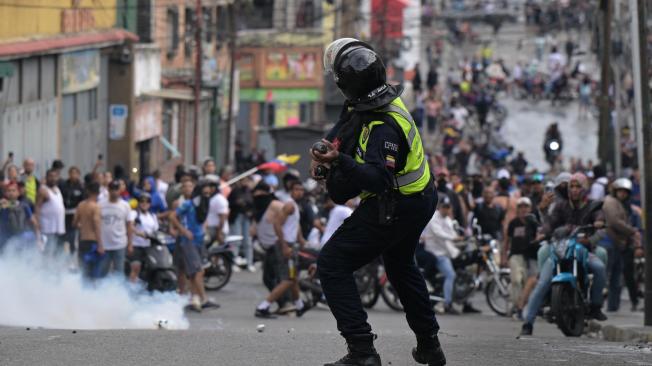
[[[533,13],[532,21],[537,17]],[[592,251],[593,318],[606,319],[605,289],[606,310],[619,310],[621,278],[632,310],[642,297],[633,268],[634,258],[643,254],[635,164],[626,164],[627,177],[618,179],[600,165],[577,160],[566,171],[551,163],[562,172],[546,175],[528,169],[523,152],[514,154],[500,137],[502,91],[523,89],[535,95],[540,89],[555,101],[572,76],[581,80],[580,108],[586,110],[591,103],[593,83],[581,63],[571,68],[572,45],[566,47],[567,56],[558,45],[550,47],[544,78],[539,67],[546,40],[535,42],[537,54],[527,65],[517,62],[509,69],[485,43],[477,55],[448,70],[444,82],[439,80],[437,61],[430,64],[425,88],[418,72],[412,80],[416,125],[425,138],[442,137],[433,138],[441,143],[435,149],[441,153],[428,154],[439,204],[417,254],[445,277],[443,312],[458,315],[453,261],[460,255],[460,245],[476,225],[496,239],[500,264],[511,274],[511,315],[524,322],[526,335],[533,331],[553,272],[549,247],[542,243],[560,227],[606,227],[584,243]],[[623,136],[623,155],[635,156],[635,143]],[[561,144],[560,136],[557,140]],[[260,299],[254,315],[301,316],[310,305],[299,295],[298,249],[319,251],[359,199],[335,204],[323,185],[291,169],[283,174],[261,171],[229,184],[236,171],[264,161],[259,153],[245,158],[239,145],[236,169],[225,166],[218,171],[215,161],[207,158],[200,167],[179,165],[171,182],[158,172],[134,182],[119,166],[103,171],[101,160],[85,175],[74,166],[66,170],[64,162],[56,160],[43,177],[37,177],[32,159],[19,167],[9,156],[0,177],[0,251],[36,246],[46,256],[68,256],[72,267],[89,280],[126,273],[128,281],[137,283],[145,248],[163,231],[175,238],[178,291],[190,293],[189,307],[202,311],[219,307],[204,287],[206,243],[221,245],[229,235],[237,235],[241,240],[233,247],[234,270],[258,270],[256,245],[264,256],[262,283],[269,295]],[[602,202],[602,208],[591,210],[595,202]],[[465,302],[462,312],[478,310]]]

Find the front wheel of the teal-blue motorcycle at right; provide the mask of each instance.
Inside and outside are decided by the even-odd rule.
[[[552,285],[550,306],[557,327],[567,337],[579,337],[584,331],[584,301],[580,293],[566,283]]]

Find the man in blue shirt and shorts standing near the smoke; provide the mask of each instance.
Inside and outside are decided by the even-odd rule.
[[[185,292],[187,278],[190,281],[190,293],[193,295],[191,308],[201,311],[203,308],[215,308],[219,305],[209,301],[206,296],[200,252],[201,246],[204,245],[203,223],[208,212],[210,189],[206,186],[201,190],[201,195],[192,197],[194,189],[193,181],[183,182],[182,197],[176,210],[170,213],[170,222],[179,232],[179,240],[174,250],[175,264],[179,269],[179,289],[181,293]]]

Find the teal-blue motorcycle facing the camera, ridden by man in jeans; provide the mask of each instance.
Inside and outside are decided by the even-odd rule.
[[[567,337],[579,337],[590,312],[589,250],[579,240],[593,225],[579,226],[569,235],[559,229],[551,240],[550,260],[555,268],[550,288],[550,316]]]

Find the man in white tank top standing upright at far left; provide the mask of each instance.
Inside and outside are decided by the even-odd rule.
[[[57,187],[59,172],[54,169],[47,171],[45,185],[36,197],[36,217],[41,233],[45,236],[45,253],[55,255],[62,252],[61,236],[66,233],[66,208],[63,195]],[[42,245],[42,244],[41,244]]]

